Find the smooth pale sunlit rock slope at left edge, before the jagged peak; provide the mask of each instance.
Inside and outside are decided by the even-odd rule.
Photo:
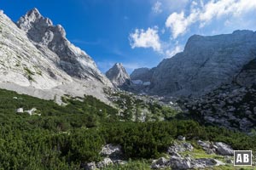
[[[45,59],[44,54],[26,37],[26,33],[20,31],[3,12],[0,14],[0,23],[0,82],[39,89],[73,82],[64,71]]]

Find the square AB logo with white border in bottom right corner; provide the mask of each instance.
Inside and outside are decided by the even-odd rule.
[[[235,166],[252,166],[252,150],[234,150]]]

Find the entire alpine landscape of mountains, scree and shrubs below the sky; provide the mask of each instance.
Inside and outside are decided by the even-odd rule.
[[[37,8],[1,10],[0,88],[0,169],[244,169],[233,151],[256,150],[255,31],[105,75]]]

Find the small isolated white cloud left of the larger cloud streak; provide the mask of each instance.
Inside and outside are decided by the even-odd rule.
[[[129,39],[131,48],[153,48],[154,51],[161,51],[160,37],[156,26],[148,28],[147,31],[136,29],[134,33],[130,34]]]

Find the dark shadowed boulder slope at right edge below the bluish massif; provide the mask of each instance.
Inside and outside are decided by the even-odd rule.
[[[256,86],[225,84],[198,99],[183,99],[186,115],[206,124],[251,132],[256,124]]]

